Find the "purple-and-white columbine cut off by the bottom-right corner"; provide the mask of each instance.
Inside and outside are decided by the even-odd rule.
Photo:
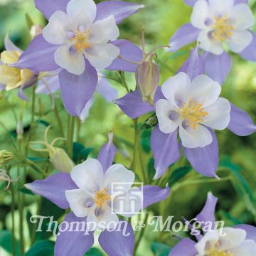
[[[196,216],[199,222],[215,226],[215,206],[218,198],[208,193],[206,205]],[[233,228],[209,230],[196,236],[197,242],[190,238],[182,239],[169,253],[169,256],[251,256],[256,252],[256,228],[252,225],[236,225]]]

